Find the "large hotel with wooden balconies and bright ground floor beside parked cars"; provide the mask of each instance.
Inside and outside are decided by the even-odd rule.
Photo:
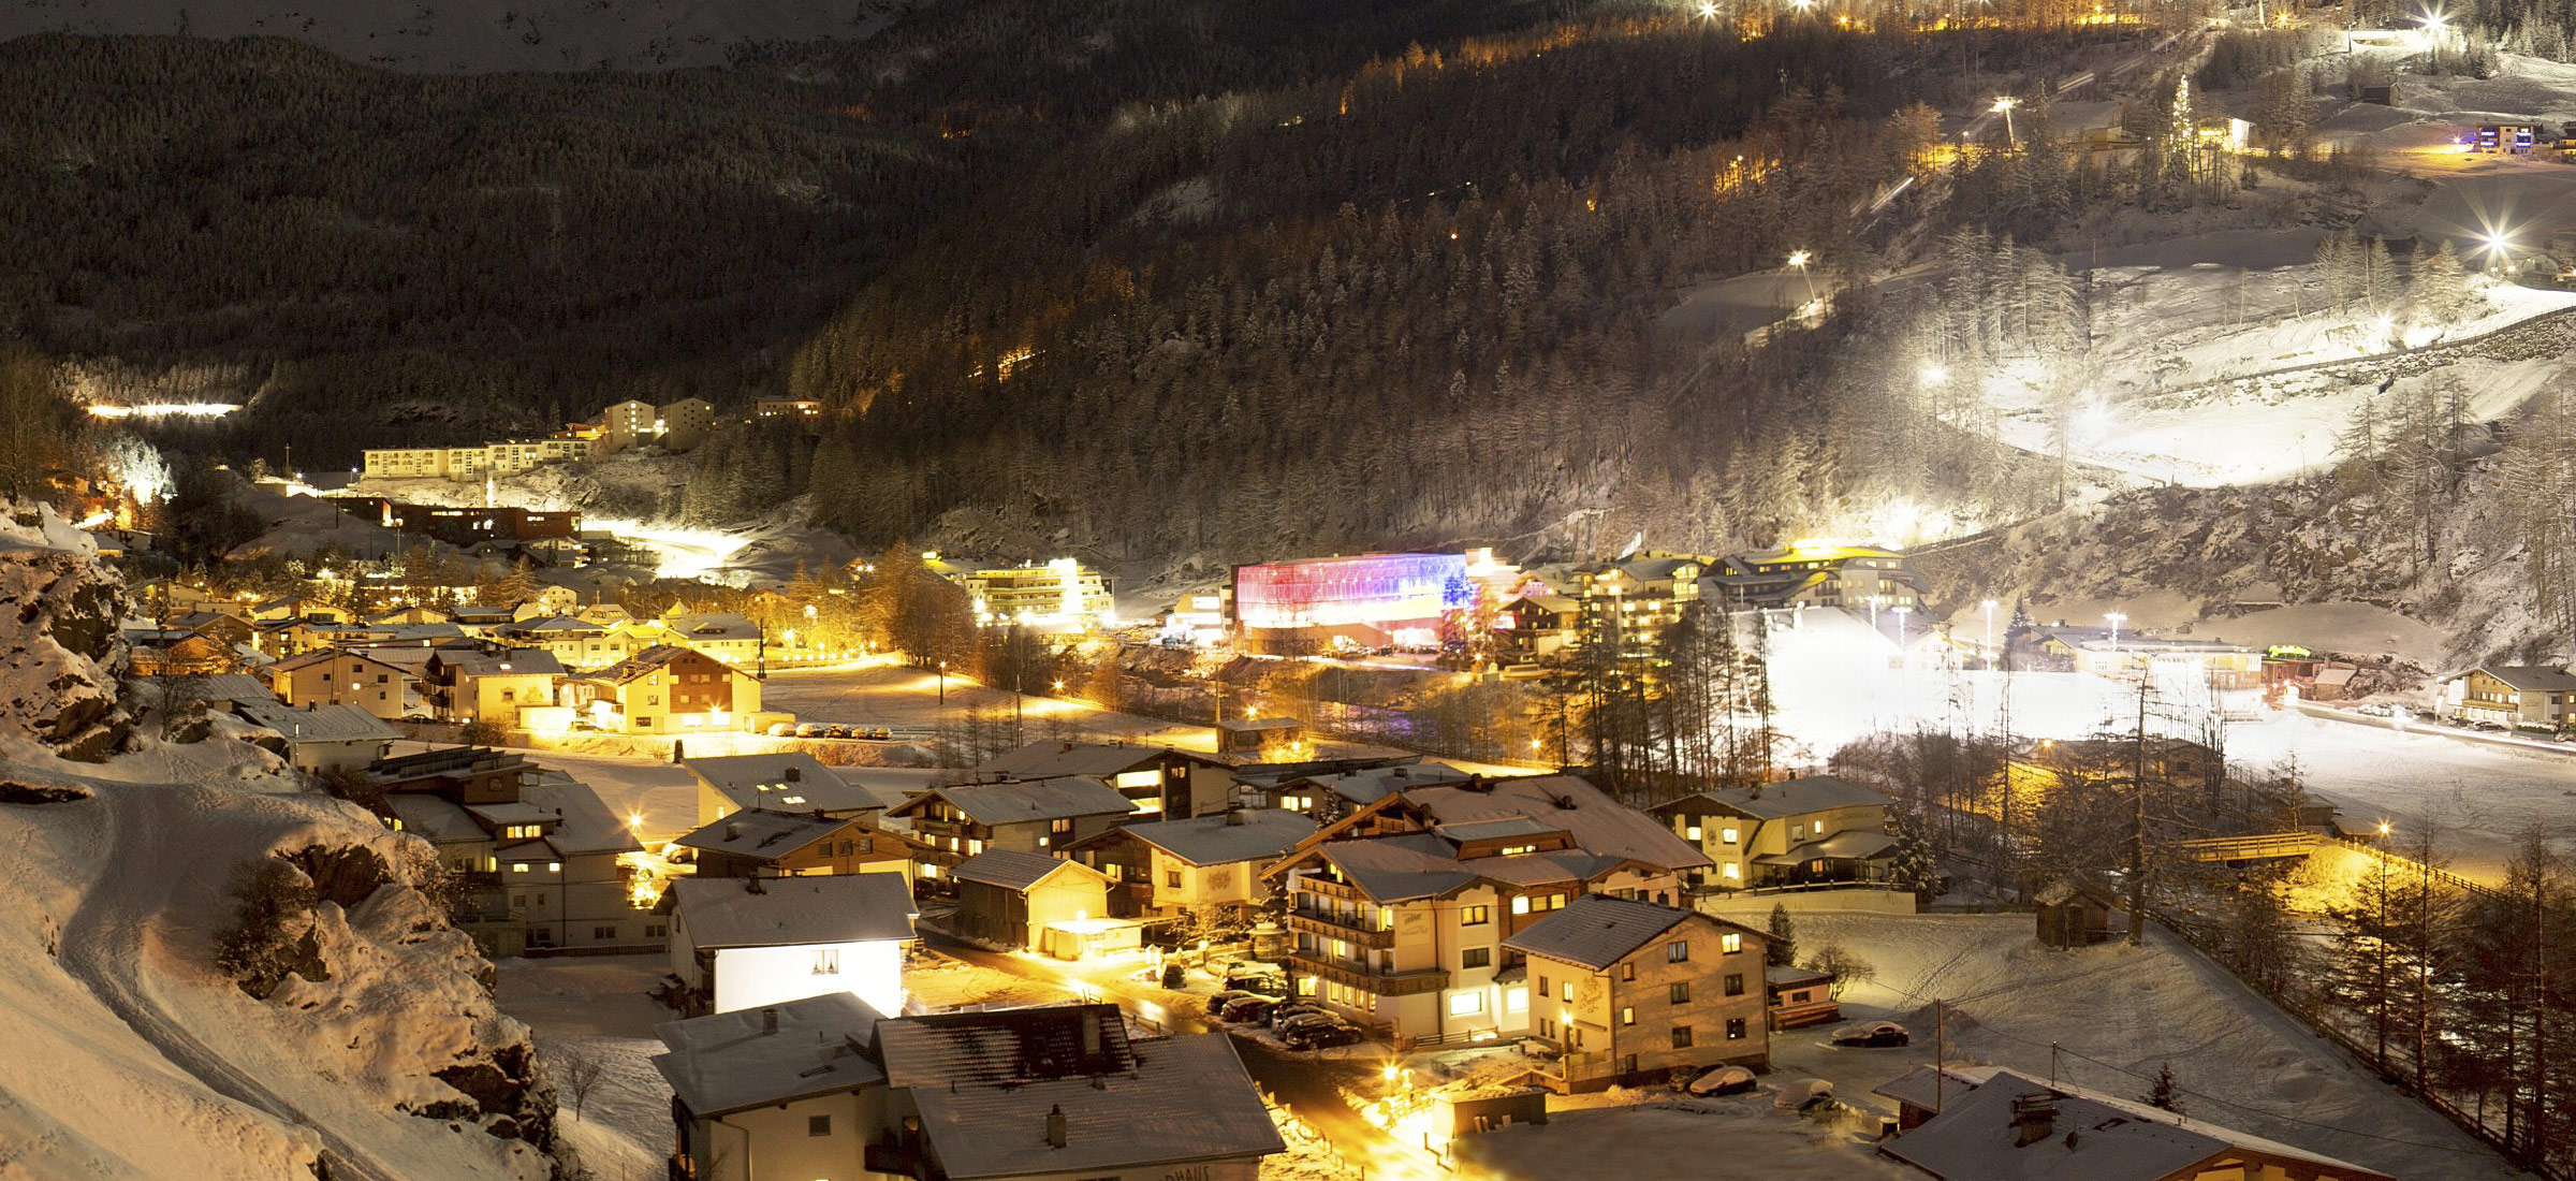
[[[1399,789],[1265,869],[1291,897],[1291,985],[1414,1042],[1530,1029],[1504,941],[1584,895],[1677,903],[1708,856],[1577,776]]]

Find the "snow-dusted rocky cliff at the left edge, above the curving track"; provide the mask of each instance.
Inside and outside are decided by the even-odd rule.
[[[44,505],[0,503],[0,725],[95,763],[126,740],[116,572]]]

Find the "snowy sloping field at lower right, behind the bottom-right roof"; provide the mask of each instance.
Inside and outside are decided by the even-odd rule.
[[[2164,931],[2146,946],[2045,952],[2030,915],[1798,915],[1803,954],[1826,939],[1875,967],[1844,993],[1844,1019],[1888,1016],[1914,1031],[1904,1049],[1837,1049],[1832,1026],[1772,1034],[1777,1078],[1826,1078],[1844,1101],[1893,1114],[1868,1091],[1932,1062],[1932,1000],[1947,1000],[1950,1062],[2120,1096],[2143,1096],[2172,1062],[2184,1109],[2213,1124],[2403,1178],[2519,1176]]]

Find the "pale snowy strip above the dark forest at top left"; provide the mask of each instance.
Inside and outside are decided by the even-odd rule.
[[[289,36],[350,62],[469,75],[677,70],[757,41],[871,36],[909,0],[10,0],[26,34]]]

